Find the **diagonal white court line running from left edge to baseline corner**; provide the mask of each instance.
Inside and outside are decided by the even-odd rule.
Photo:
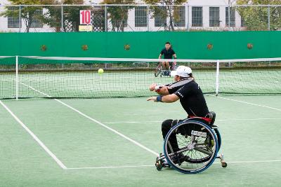
[[[53,160],[55,160],[55,162],[58,163],[58,165],[59,165],[61,168],[67,169],[67,167],[63,164],[63,162],[61,162],[61,161],[55,156],[55,154],[53,154],[53,153],[48,149],[48,147],[45,146],[45,145],[43,144],[43,142],[42,142],[42,141],[41,141],[25,124],[22,123],[22,121],[21,121],[17,116],[15,116],[15,114],[14,114],[10,109],[8,109],[8,106],[6,106],[3,102],[1,102],[1,100],[0,100],[0,104],[1,104],[2,106],[4,106],[4,108],[11,114],[11,116],[13,116],[13,118],[15,118],[15,120],[17,120],[18,123],[20,123],[20,125],[32,136],[32,138],[33,138],[35,141],[37,141],[37,143],[41,146],[41,148],[43,148],[43,149],[46,151],[46,153],[48,153],[48,155],[50,155],[51,158],[53,158]]]

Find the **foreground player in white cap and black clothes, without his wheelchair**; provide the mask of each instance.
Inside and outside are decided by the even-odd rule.
[[[171,71],[171,76],[174,76],[174,81],[186,80],[186,78],[193,78],[192,70],[189,67],[179,66],[176,71]],[[169,88],[164,86],[163,88],[157,88],[157,85],[154,83],[150,85],[150,91],[155,91],[159,96],[150,97],[148,101],[154,102],[176,102],[180,99],[181,106],[188,114],[188,118],[192,117],[206,117],[209,113],[203,92],[200,86],[194,81],[189,81],[183,85],[180,85],[176,88]],[[162,123],[162,135],[165,139],[166,134],[168,134],[171,127],[174,127],[177,123],[181,123],[183,120],[164,120]],[[169,138],[171,147],[173,151],[178,151],[178,142],[176,140],[176,134],[172,134]],[[169,151],[170,152],[170,151]]]

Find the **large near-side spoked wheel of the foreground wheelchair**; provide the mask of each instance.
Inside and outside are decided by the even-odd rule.
[[[197,132],[201,133],[201,135],[192,135],[192,133]],[[178,148],[180,148],[180,150],[176,151],[175,153],[168,153],[168,142],[171,134],[181,135],[181,137],[177,137],[179,146]],[[190,142],[188,141],[189,139]],[[209,143],[209,141],[213,141],[213,143]],[[189,146],[192,144],[195,144],[196,147],[190,148]],[[214,130],[212,130],[209,125],[196,120],[186,120],[183,123],[179,123],[178,125],[174,126],[168,132],[164,140],[164,155],[166,160],[169,162],[169,165],[171,165],[171,167],[178,170],[179,172],[183,172],[186,174],[194,174],[207,169],[216,159],[217,152],[218,139]],[[184,155],[185,159],[183,164],[178,164],[178,162],[175,161],[173,162],[173,156],[179,153],[182,153]],[[198,155],[202,158],[198,158]],[[195,158],[190,158],[192,156]],[[194,166],[192,165],[193,163],[196,163],[197,165]],[[191,169],[189,168],[190,165],[192,167]]]

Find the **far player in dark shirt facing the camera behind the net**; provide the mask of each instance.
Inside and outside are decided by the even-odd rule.
[[[167,41],[165,43],[165,48],[161,50],[161,53],[159,55],[159,59],[162,58],[162,55],[164,55],[164,59],[172,59],[174,57],[174,59],[176,59],[176,53],[175,51],[171,48],[171,43],[169,43],[169,41]],[[173,67],[173,62],[162,62],[162,67],[164,67],[163,69],[168,70],[168,73],[170,73]]]

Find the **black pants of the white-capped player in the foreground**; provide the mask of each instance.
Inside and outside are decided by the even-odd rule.
[[[174,127],[176,124],[180,123],[183,120],[164,120],[162,123],[162,135],[163,139],[165,139],[166,134],[168,134],[169,130],[171,130],[171,127]],[[173,148],[173,151],[178,151],[178,141],[176,140],[176,133],[171,134],[169,137],[169,142],[171,144],[171,147]],[[171,150],[168,145],[168,153],[171,153]]]

